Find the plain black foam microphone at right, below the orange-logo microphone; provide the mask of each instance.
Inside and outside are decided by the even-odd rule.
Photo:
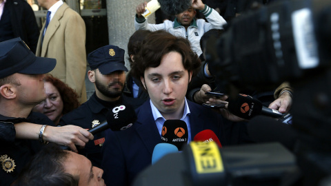
[[[258,143],[279,142],[288,149],[294,149],[298,133],[291,125],[266,116],[252,118],[247,125],[248,135]]]

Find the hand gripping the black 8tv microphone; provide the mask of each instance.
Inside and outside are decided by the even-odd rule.
[[[63,127],[47,126],[43,133],[44,140],[68,146],[73,152],[78,152],[75,145],[85,147],[85,144],[93,138],[94,136],[90,132],[76,125]]]

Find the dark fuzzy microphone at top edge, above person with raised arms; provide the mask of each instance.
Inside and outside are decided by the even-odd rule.
[[[192,6],[192,0],[158,0],[161,10],[168,15],[175,15],[188,10]]]

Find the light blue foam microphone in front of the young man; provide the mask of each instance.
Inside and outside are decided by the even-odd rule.
[[[178,152],[178,148],[170,143],[159,143],[155,145],[152,154],[152,165],[159,161],[163,156]]]

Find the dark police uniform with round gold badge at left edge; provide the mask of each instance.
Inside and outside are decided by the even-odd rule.
[[[31,112],[28,118],[12,118],[0,115],[1,186],[7,186],[14,182],[22,168],[43,146],[37,140],[15,139],[14,123],[21,122],[54,125],[47,116],[39,112]]]

